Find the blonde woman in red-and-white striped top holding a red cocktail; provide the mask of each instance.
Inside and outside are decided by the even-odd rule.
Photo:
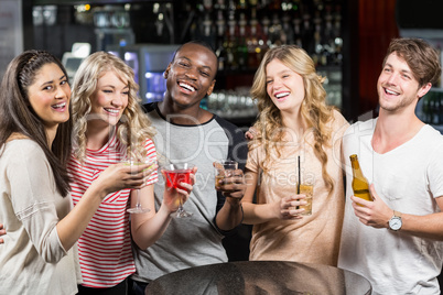
[[[73,119],[75,145],[68,171],[72,195],[76,205],[85,189],[107,166],[118,163],[129,151],[156,160],[151,138],[153,128],[143,113],[138,85],[132,69],[120,58],[98,52],[86,58],[73,84]],[[154,210],[153,184],[156,170],[148,185],[139,190],[145,214],[131,215],[136,206],[134,192],[122,189],[109,194],[97,209],[85,233],[78,240],[83,275],[79,294],[126,294],[127,277],[134,273],[131,233],[139,248],[145,249],[161,237],[177,209],[179,197],[186,199],[192,186],[166,190],[159,211]],[[134,196],[134,197],[132,197]]]

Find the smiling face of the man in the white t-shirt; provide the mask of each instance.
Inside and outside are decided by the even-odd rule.
[[[415,108],[419,97],[424,96],[429,87],[419,87],[408,63],[391,53],[378,78],[377,90],[380,108],[396,112],[404,108]]]

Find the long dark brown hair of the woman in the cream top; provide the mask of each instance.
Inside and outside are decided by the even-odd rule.
[[[71,156],[71,106],[69,119],[58,124],[52,146],[47,146],[47,134],[42,119],[35,113],[29,100],[29,87],[35,81],[39,70],[46,64],[56,64],[65,74],[62,63],[45,51],[26,51],[8,65],[0,86],[0,156],[12,133],[21,133],[35,141],[50,162],[55,185],[62,196],[69,190],[66,164]]]

